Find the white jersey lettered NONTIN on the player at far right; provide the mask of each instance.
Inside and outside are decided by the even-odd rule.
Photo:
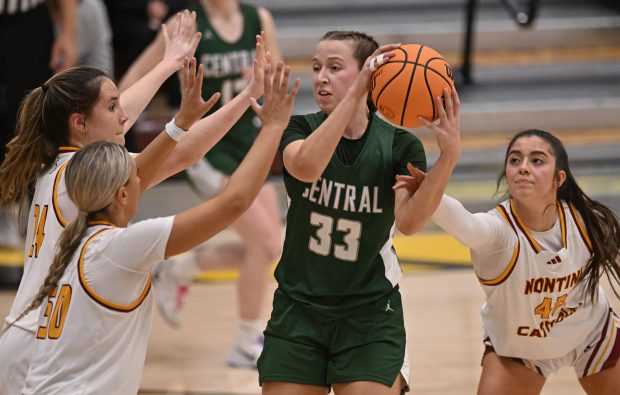
[[[510,201],[496,210],[517,234],[511,261],[495,279],[480,279],[487,295],[482,320],[500,356],[547,359],[566,355],[609,312],[599,287],[592,300],[579,278],[592,255],[585,226],[572,205],[557,204],[562,248],[545,251]],[[498,264],[503,264],[498,262]]]

